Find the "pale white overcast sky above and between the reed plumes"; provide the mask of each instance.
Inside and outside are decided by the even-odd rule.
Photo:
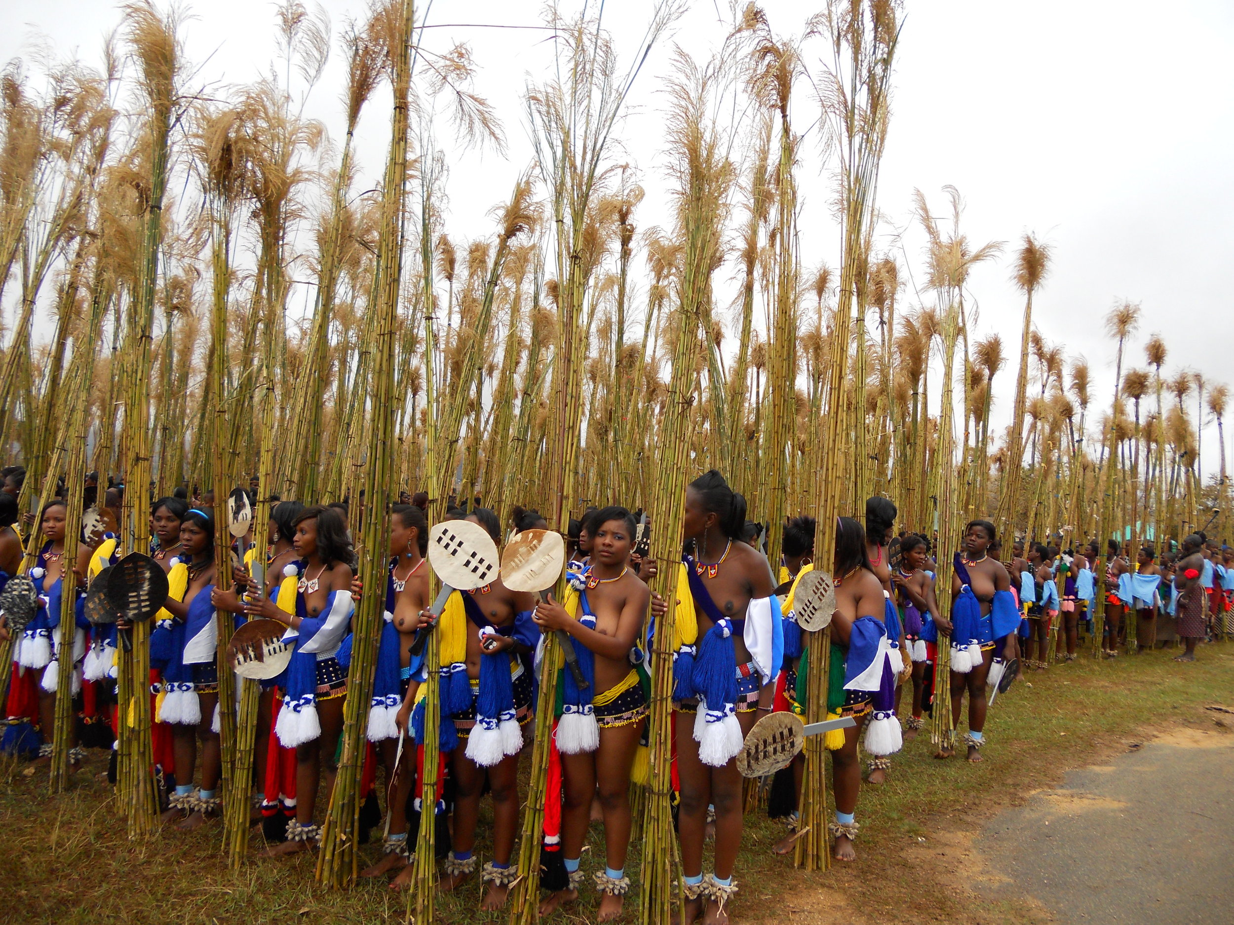
[[[347,16],[362,17],[358,0],[327,0],[336,39]],[[592,2],[592,9],[595,9]],[[608,0],[605,22],[623,60],[638,48],[650,0]],[[563,10],[579,9],[563,1]],[[670,37],[698,59],[728,31],[727,0],[695,0]],[[800,35],[817,2],[766,0],[772,30]],[[188,58],[197,84],[242,84],[267,72],[274,51],[274,5],[211,0],[188,6]],[[485,234],[489,210],[502,201],[531,160],[522,94],[548,73],[549,33],[470,28],[462,23],[543,25],[539,0],[437,0],[426,33],[445,49],[471,46],[480,73],[476,90],[492,102],[508,139],[506,157],[450,150],[448,231],[455,238]],[[35,44],[58,56],[99,60],[102,36],[118,21],[116,6],[99,0],[5,0],[0,58],[27,54]],[[457,25],[454,25],[457,23]],[[819,43],[806,46],[817,72]],[[670,42],[648,59],[621,127],[628,160],[648,195],[636,221],[668,224],[661,152],[663,96]],[[1035,302],[1044,337],[1082,354],[1096,376],[1097,401],[1108,401],[1114,348],[1103,317],[1116,300],[1143,305],[1140,332],[1128,354],[1143,365],[1143,343],[1157,332],[1167,366],[1187,366],[1209,381],[1229,377],[1234,321],[1228,275],[1234,252],[1234,4],[1229,0],[909,0],[897,53],[893,116],[879,186],[884,215],[877,247],[893,249],[922,280],[922,237],[909,228],[913,189],[937,212],[942,187],[964,195],[963,231],[980,245],[1002,240],[1003,259],[979,268],[970,296],[980,306],[979,333],[997,331],[1008,369],[996,384],[1014,384],[1022,297],[1009,282],[1009,252],[1024,232],[1054,249],[1053,273]],[[337,52],[310,97],[306,113],[341,132],[343,86]],[[795,118],[805,130],[817,116],[810,86],[797,89]],[[369,176],[380,173],[389,126],[387,97],[376,97],[362,126],[360,155]],[[443,130],[443,144],[450,138]],[[802,261],[839,263],[838,226],[828,208],[830,174],[807,137],[801,158]],[[722,269],[721,278],[728,276]],[[923,294],[924,295],[924,294]],[[908,303],[916,303],[912,287]],[[1001,385],[1001,387],[998,387]],[[1000,402],[1007,413],[1006,398]],[[1208,430],[1204,438],[1215,437]],[[1213,446],[1214,444],[1208,444]],[[1217,466],[1206,453],[1206,471]]]

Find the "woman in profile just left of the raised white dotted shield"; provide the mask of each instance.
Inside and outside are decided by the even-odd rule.
[[[418,687],[411,678],[411,644],[416,638],[420,623],[418,614],[432,601],[428,597],[428,564],[424,555],[428,551],[428,523],[424,512],[412,504],[396,504],[390,520],[390,569],[386,578],[385,625],[381,629],[381,644],[378,651],[378,678],[373,688],[373,707],[369,712],[369,739],[381,746],[381,761],[386,768],[386,807],[390,813],[390,825],[381,846],[383,858],[364,872],[362,877],[378,877],[391,871],[407,868],[413,846],[407,844],[407,798],[416,782],[416,749],[411,742],[404,746],[402,758],[399,756],[397,723],[391,719],[390,728],[395,735],[376,739],[374,720],[379,712],[397,713],[397,707],[408,698],[415,702]],[[384,692],[386,702],[379,703]],[[390,698],[394,697],[394,710],[390,710]],[[387,730],[386,730],[387,731]],[[396,886],[402,886],[396,881]]]

